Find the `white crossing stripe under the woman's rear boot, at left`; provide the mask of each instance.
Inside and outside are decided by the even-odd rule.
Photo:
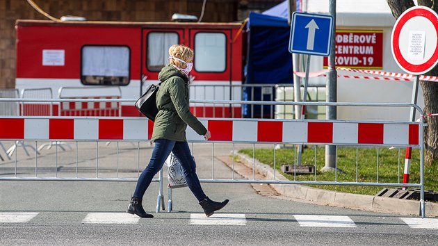
[[[88,213],[82,224],[136,224],[140,218],[129,213]]]

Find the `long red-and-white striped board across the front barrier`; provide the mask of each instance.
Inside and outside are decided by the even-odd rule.
[[[336,145],[419,145],[419,123],[200,120],[214,141],[321,143]],[[149,140],[145,118],[0,118],[0,140]],[[187,139],[203,141],[190,127]]]

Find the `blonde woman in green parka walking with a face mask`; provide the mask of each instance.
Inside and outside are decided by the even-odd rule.
[[[156,106],[159,109],[154,122],[151,141],[155,142],[149,165],[143,170],[137,181],[136,190],[131,197],[127,213],[141,218],[154,218],[146,213],[142,206],[143,195],[152,182],[154,175],[161,170],[165,159],[172,152],[183,167],[188,188],[210,217],[215,211],[229,202],[214,202],[202,190],[197,178],[195,161],[192,158],[186,140],[187,125],[205,140],[211,137],[197,118],[190,113],[188,107],[188,73],[193,67],[193,50],[184,45],[175,44],[169,48],[169,64],[161,69],[159,80],[162,82],[156,95]]]

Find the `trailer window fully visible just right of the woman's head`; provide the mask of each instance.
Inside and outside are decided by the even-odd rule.
[[[196,72],[225,72],[227,68],[227,37],[225,33],[196,33]]]

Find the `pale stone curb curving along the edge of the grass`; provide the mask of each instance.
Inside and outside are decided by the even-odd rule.
[[[243,165],[252,169],[252,159],[246,155],[239,154],[237,151],[234,152],[234,155],[241,158]],[[272,167],[255,160],[254,169],[267,179],[274,179]],[[275,172],[275,179],[288,181],[288,179],[279,172]],[[277,183],[270,183],[269,185],[281,195],[318,205],[352,208],[378,213],[395,213],[398,215],[419,216],[420,213],[419,201],[334,192],[301,185],[286,186]],[[426,202],[425,213],[426,217],[438,217],[438,203]]]

